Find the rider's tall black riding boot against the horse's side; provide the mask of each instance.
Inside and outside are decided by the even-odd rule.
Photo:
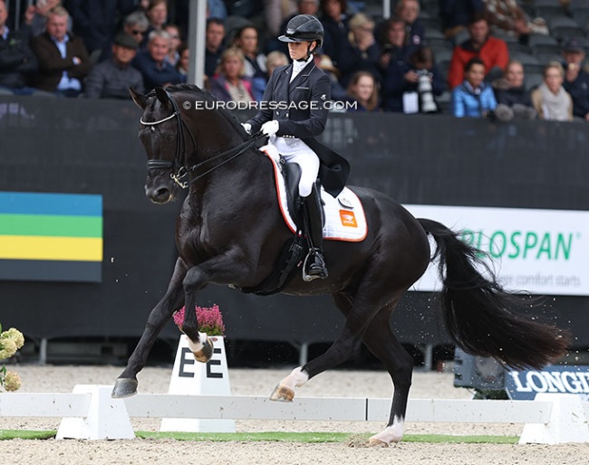
[[[309,242],[309,253],[304,259],[303,280],[324,280],[328,276],[323,260],[323,215],[317,185],[311,195],[303,199],[304,227]]]

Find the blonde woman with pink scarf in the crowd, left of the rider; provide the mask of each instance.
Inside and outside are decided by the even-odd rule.
[[[209,81],[210,93],[221,101],[254,101],[252,83],[245,73],[244,53],[237,47],[228,48],[221,55],[217,74]]]

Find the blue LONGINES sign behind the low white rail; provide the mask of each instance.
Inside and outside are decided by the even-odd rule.
[[[589,366],[549,365],[543,370],[506,372],[507,395],[513,400],[534,400],[538,393],[577,394],[589,401]]]

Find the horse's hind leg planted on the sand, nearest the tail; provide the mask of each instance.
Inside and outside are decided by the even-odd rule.
[[[362,337],[364,344],[377,356],[391,375],[394,384],[391,415],[387,427],[370,439],[371,443],[390,444],[403,437],[403,423],[413,372],[413,357],[401,346],[391,331],[394,306],[383,308],[372,320]]]

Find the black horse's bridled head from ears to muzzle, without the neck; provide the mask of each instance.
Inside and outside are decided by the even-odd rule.
[[[148,157],[145,195],[151,202],[166,204],[176,196],[181,183],[179,171],[186,157],[179,108],[169,92],[161,88],[147,95],[129,91],[135,104],[143,110],[139,138]]]

